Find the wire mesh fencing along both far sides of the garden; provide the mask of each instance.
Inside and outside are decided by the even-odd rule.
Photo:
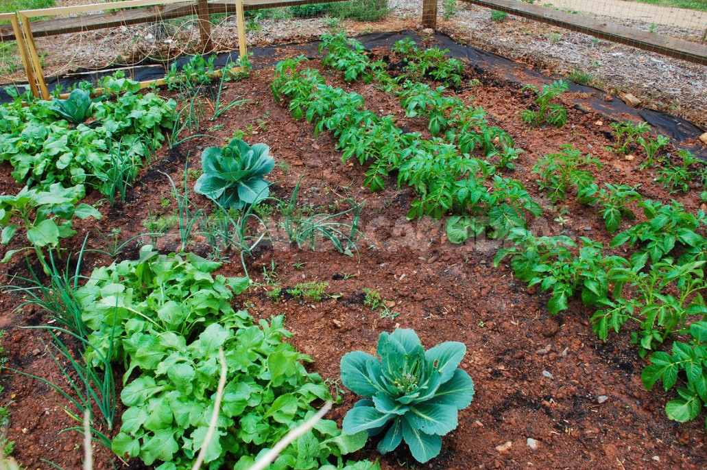
[[[98,0],[12,1],[35,4],[53,1],[55,6],[76,6]],[[112,10],[112,4],[106,2],[89,13],[32,18],[44,74],[82,74],[107,67],[148,64],[164,66],[183,55],[238,49],[235,0],[212,1],[209,5],[208,48],[204,47],[204,32],[200,28],[204,16],[200,18],[197,14],[196,0],[167,1],[171,3],[120,11]],[[536,8],[537,15],[547,18],[534,21],[479,5],[491,2],[498,8],[519,5]],[[617,25],[658,38],[657,42],[665,47],[670,47],[670,41],[675,39],[701,47],[703,53],[707,47],[707,4],[701,0],[244,0],[243,4],[243,29],[249,46],[312,40],[340,30],[356,34],[436,25],[438,30],[467,44],[580,83],[618,93],[631,90],[658,108],[705,122],[704,117],[699,117],[704,114],[707,101],[705,66],[646,54],[606,38],[584,34],[593,32],[580,26],[568,30],[566,25],[558,26],[561,22],[552,21],[554,16],[564,15],[580,25],[583,21],[594,21],[592,24],[599,26]],[[140,15],[148,21],[135,24]],[[110,28],[94,28],[95,23],[108,19],[112,21]],[[67,28],[71,32],[42,35],[42,30],[56,29],[62,21],[71,23],[72,28]],[[0,83],[26,80],[11,25],[0,14]]]

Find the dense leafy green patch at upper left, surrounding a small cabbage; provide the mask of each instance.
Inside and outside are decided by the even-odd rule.
[[[54,183],[86,184],[105,191],[107,181],[115,179],[107,173],[119,154],[130,152],[127,161],[141,162],[160,147],[177,103],[154,93],[134,93],[134,81],[102,83],[110,99],[90,105],[95,118],[90,126],[57,120],[51,102],[27,93],[0,105],[0,158],[11,163],[18,183],[42,190]]]

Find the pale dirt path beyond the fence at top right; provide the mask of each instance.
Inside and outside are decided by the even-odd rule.
[[[707,28],[707,12],[687,10],[685,8],[670,8],[652,4],[643,4],[625,0],[549,0],[542,6],[552,6],[559,10],[582,11],[592,15],[613,16],[622,19],[645,21],[656,25],[678,26],[705,30]]]

